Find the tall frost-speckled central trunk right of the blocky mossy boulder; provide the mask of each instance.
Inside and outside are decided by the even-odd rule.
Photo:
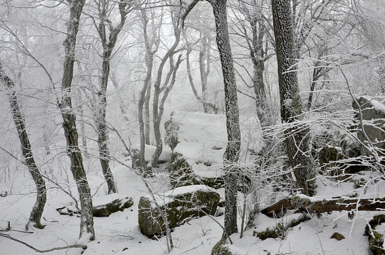
[[[217,45],[221,58],[225,90],[226,126],[228,144],[223,155],[225,174],[225,222],[223,238],[238,231],[237,228],[237,162],[241,147],[237,85],[233,56],[227,28],[226,0],[209,0],[213,6],[217,28]]]

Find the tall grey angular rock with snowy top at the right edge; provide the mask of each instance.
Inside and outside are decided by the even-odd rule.
[[[380,149],[385,149],[385,105],[382,103],[371,99],[367,96],[361,96],[357,99],[357,102],[361,108],[362,120],[363,120],[363,129],[368,136],[369,140]],[[353,101],[353,108],[358,110],[358,105]],[[356,114],[356,119],[360,120],[361,116],[359,113]],[[370,122],[370,124],[369,124]],[[367,123],[367,124],[365,124]],[[361,129],[361,126],[358,127]],[[357,132],[357,138],[364,144],[367,144],[367,138],[362,130]],[[361,154],[370,155],[369,151],[363,146],[360,146]]]

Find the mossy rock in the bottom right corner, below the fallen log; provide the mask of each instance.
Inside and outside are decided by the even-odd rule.
[[[385,223],[385,214],[379,214],[373,217],[369,222],[369,225],[365,227],[365,236],[368,236],[369,248],[374,255],[385,255],[385,250],[383,247],[383,234],[380,234],[375,231],[376,226]],[[372,237],[371,229],[373,231],[374,237]]]

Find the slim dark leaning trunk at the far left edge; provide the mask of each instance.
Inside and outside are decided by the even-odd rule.
[[[33,181],[36,185],[36,202],[32,208],[28,223],[25,226],[25,229],[28,230],[29,224],[34,223],[33,226],[37,228],[44,228],[40,220],[42,218],[43,210],[45,203],[47,201],[46,193],[46,184],[45,181],[36,166],[35,160],[33,158],[33,153],[31,150],[31,143],[29,142],[27,131],[25,130],[25,119],[22,115],[20,107],[18,106],[18,101],[16,97],[16,91],[14,90],[14,82],[8,77],[0,63],[0,81],[4,83],[7,88],[9,104],[11,106],[11,112],[13,121],[16,126],[18,139],[20,140],[22,146],[22,153],[24,156],[25,163],[28,167],[28,170],[32,176]]]

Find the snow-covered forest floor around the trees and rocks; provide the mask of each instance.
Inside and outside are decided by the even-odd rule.
[[[95,161],[94,161],[95,162]],[[130,165],[130,161],[126,161]],[[51,163],[53,164],[53,163]],[[113,164],[112,164],[113,165]],[[105,195],[106,190],[101,169],[97,163],[86,164],[87,176],[91,186],[92,194],[95,196]],[[54,169],[54,167],[52,167]],[[148,191],[137,174],[127,167],[118,165],[112,166],[115,181],[119,193],[133,198],[134,205],[123,212],[115,212],[109,217],[94,218],[95,241],[87,244],[88,248],[71,248],[66,250],[55,250],[47,254],[165,254],[167,244],[165,238],[151,240],[141,234],[138,225],[138,202],[142,195]],[[27,170],[19,169],[14,173],[3,174],[0,182],[0,191],[8,190],[6,197],[0,197],[0,221],[9,221],[12,230],[24,231],[25,224],[29,218],[30,210],[35,201],[34,186]],[[76,196],[76,188],[72,178],[68,178],[59,167],[51,174],[58,182],[67,184]],[[162,174],[161,174],[162,176]],[[156,190],[167,190],[162,178],[149,181]],[[337,194],[347,194],[353,190],[353,183],[340,183],[336,185],[330,180],[318,181],[318,197],[331,197]],[[80,218],[61,215],[55,209],[71,203],[71,198],[54,185],[48,184],[47,204],[43,213],[42,224],[44,229],[30,228],[33,233],[18,231],[6,232],[13,238],[32,245],[37,249],[49,249],[76,243],[79,238]],[[101,187],[98,189],[98,187]],[[218,190],[223,196],[223,189]],[[381,190],[376,192],[380,193]],[[263,214],[257,214],[252,229],[246,230],[243,238],[239,233],[231,237],[234,245],[229,250],[233,254],[371,254],[368,238],[363,236],[365,225],[373,215],[378,212],[360,211],[354,220],[348,218],[347,212],[337,211],[332,214],[324,214],[321,218],[312,215],[312,219],[299,225],[288,228],[276,239],[264,241],[253,236],[254,231],[263,231],[267,227],[272,229],[277,223],[285,225],[292,217],[293,212],[288,213],[281,219],[268,218]],[[216,220],[223,224],[223,215]],[[239,229],[241,220],[238,219]],[[345,239],[337,241],[331,239],[333,233],[338,232]],[[4,233],[4,232],[3,232]],[[184,225],[177,227],[172,232],[172,239],[175,248],[170,254],[210,254],[213,246],[222,236],[222,228],[208,217],[191,220]],[[29,255],[37,254],[33,249],[15,241],[0,237],[0,254],[2,255]]]

